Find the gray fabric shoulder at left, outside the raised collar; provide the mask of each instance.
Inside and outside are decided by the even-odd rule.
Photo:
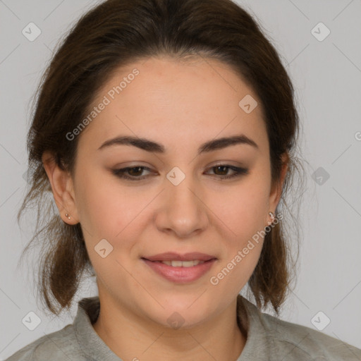
[[[72,324],[38,338],[6,359],[6,361],[85,360]]]

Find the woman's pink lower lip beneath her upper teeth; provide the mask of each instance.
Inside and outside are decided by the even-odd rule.
[[[149,259],[142,258],[150,268],[165,279],[176,283],[189,283],[200,279],[213,266],[216,259],[211,259],[202,264],[192,267],[173,267],[161,262],[152,262]]]

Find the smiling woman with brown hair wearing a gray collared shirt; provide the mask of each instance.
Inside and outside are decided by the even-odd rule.
[[[8,360],[360,359],[261,312],[290,283],[279,204],[298,127],[278,54],[233,2],[108,0],[83,16],[39,92],[20,214],[50,217],[48,309],[71,306],[84,271],[99,297]]]

